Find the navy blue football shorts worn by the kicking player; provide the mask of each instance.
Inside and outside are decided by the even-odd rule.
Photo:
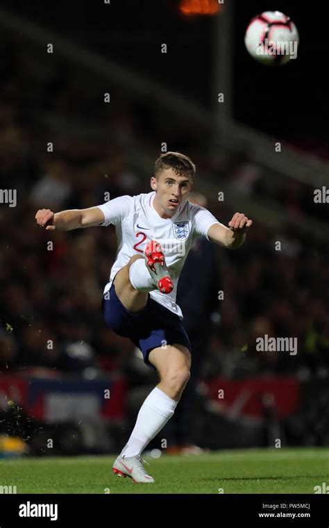
[[[151,368],[149,353],[155,347],[184,345],[191,351],[191,343],[176,313],[151,299],[150,295],[145,308],[134,313],[128,311],[121,303],[115,285],[103,295],[101,302],[106,324],[118,336],[129,338],[143,354],[144,362]]]

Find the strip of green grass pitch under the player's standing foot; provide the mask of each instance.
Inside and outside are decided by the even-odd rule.
[[[112,475],[113,456],[0,461],[17,493],[314,493],[329,484],[329,449],[244,449],[201,456],[143,456],[155,484]]]

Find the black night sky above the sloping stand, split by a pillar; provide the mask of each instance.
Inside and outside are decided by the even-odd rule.
[[[111,0],[110,6],[103,0],[1,3],[210,106],[212,20],[183,19],[176,0]],[[313,3],[306,9],[296,0],[276,0],[274,5],[273,0],[235,1],[231,53],[237,119],[282,139],[326,138],[329,49],[324,6]],[[298,28],[298,58],[286,66],[258,65],[244,48],[248,22],[267,9],[282,10]],[[168,44],[167,55],[159,51],[161,42]]]

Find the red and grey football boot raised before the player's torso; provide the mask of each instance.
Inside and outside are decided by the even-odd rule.
[[[159,242],[151,240],[146,244],[144,251],[146,267],[161,293],[170,293],[174,289],[165,261],[165,255]]]

